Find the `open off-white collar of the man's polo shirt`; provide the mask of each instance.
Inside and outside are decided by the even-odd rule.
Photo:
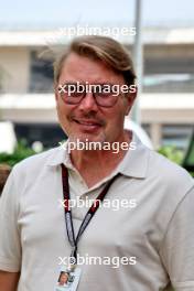
[[[64,163],[66,168],[75,170],[67,151],[67,142],[68,141],[65,141],[61,147],[53,149],[53,153],[47,160],[47,165],[57,166]],[[133,142],[134,149],[128,150],[123,160],[114,173],[121,173],[126,176],[144,179],[148,171],[150,150],[142,144],[134,132],[132,132],[131,142]]]

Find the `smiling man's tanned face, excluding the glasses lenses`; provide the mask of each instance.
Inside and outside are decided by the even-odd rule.
[[[103,62],[72,53],[65,61],[57,85],[119,84],[125,80]],[[55,88],[57,115],[63,130],[71,140],[80,141],[121,141],[123,140],[123,119],[132,106],[133,99],[118,96],[112,107],[100,107],[91,93],[87,93],[78,105],[65,104]]]

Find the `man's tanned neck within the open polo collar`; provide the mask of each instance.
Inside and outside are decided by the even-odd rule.
[[[118,141],[131,141],[131,134],[125,132],[123,137]],[[71,159],[74,166],[85,180],[88,186],[93,186],[107,175],[109,175],[123,159],[128,150],[119,147],[118,152],[111,150],[73,150]]]

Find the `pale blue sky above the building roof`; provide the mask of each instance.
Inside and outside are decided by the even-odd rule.
[[[133,23],[136,0],[0,0],[0,29]],[[193,0],[142,0],[143,25],[194,26]]]

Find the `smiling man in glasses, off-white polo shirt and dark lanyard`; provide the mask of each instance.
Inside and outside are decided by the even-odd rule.
[[[0,208],[0,290],[55,290],[58,267],[72,259],[79,291],[157,291],[170,282],[194,290],[194,183],[123,130],[134,78],[130,56],[109,37],[75,39],[55,64],[68,141],[10,174]],[[69,151],[72,143],[84,148]],[[84,207],[69,209],[71,200]]]

